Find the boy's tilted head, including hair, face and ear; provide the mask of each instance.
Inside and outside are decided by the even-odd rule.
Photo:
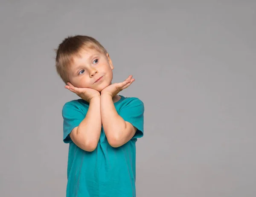
[[[85,35],[69,36],[59,44],[55,67],[65,84],[70,82],[75,87],[99,92],[109,86],[113,78],[107,50],[96,39]]]

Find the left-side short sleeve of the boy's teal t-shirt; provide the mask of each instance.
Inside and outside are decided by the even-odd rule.
[[[64,104],[62,108],[63,117],[63,141],[65,143],[72,142],[69,134],[73,128],[78,127],[85,118],[84,112],[74,104]]]

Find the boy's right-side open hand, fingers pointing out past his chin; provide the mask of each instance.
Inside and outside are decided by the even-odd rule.
[[[115,83],[111,84],[108,87],[105,87],[102,91],[101,94],[109,94],[112,97],[116,96],[120,91],[124,90],[125,88],[129,87],[132,82],[134,82],[135,79],[132,78],[132,75],[130,75],[125,81],[120,82],[120,83]]]

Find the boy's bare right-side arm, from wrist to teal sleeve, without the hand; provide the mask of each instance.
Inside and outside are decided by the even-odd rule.
[[[101,117],[102,125],[108,143],[112,147],[119,147],[128,142],[135,134],[137,128],[129,122],[125,122],[116,112],[112,95],[102,93],[101,95]]]

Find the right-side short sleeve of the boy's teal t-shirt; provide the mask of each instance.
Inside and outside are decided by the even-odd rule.
[[[140,138],[144,134],[144,104],[140,99],[133,99],[120,109],[119,116],[137,128],[133,138]]]

